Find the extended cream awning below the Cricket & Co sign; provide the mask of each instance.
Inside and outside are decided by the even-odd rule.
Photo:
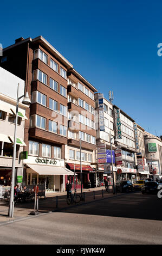
[[[27,166],[40,175],[74,175],[74,172],[71,172],[66,167],[46,166],[43,164],[27,164]]]

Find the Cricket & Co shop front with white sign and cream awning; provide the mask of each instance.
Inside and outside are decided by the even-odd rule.
[[[47,192],[63,192],[65,190],[65,176],[74,175],[64,167],[64,160],[48,159],[47,157],[28,156],[24,160],[26,169],[26,185],[42,185],[46,183]]]

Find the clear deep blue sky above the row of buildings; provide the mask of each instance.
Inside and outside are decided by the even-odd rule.
[[[74,68],[146,131],[162,135],[162,2],[8,1],[3,47],[42,35]]]

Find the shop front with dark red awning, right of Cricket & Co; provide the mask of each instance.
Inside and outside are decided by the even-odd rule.
[[[70,183],[72,184],[72,189],[74,189],[74,185],[76,185],[77,189],[81,188],[81,171],[80,171],[80,164],[75,164],[75,163],[67,163],[66,167],[69,170],[73,171],[73,175],[74,172],[75,174],[77,174],[75,176],[76,182],[74,184],[74,176],[66,176],[66,182],[67,180],[70,180]],[[91,183],[91,187],[95,186],[95,170],[85,164],[82,164],[82,187],[83,188],[88,188],[88,181],[90,180]]]

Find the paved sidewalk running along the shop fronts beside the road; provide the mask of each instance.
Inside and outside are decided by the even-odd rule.
[[[95,200],[102,200],[109,197],[116,197],[119,196],[118,193],[113,194],[112,188],[110,188],[110,192],[107,193],[105,191],[105,187],[97,187],[97,188],[90,188],[83,189],[83,194],[85,194],[85,201],[81,201],[77,204],[67,204],[67,193],[66,192],[51,192],[46,193],[46,199],[41,198],[39,200],[39,214],[36,216],[40,216],[42,214],[47,214],[48,212],[52,211],[60,211],[64,208],[74,207],[75,205],[81,205],[85,203],[94,202]],[[77,190],[77,193],[81,195],[81,191]],[[95,199],[94,199],[95,196]],[[56,202],[57,199],[57,202]],[[57,207],[56,207],[57,206]],[[16,202],[14,207],[14,218],[8,217],[8,209],[9,209],[9,202],[0,201],[0,225],[7,224],[13,221],[23,220],[23,218],[31,218],[36,217],[34,215],[30,215],[30,212],[34,211],[34,202],[27,201],[27,202]]]

